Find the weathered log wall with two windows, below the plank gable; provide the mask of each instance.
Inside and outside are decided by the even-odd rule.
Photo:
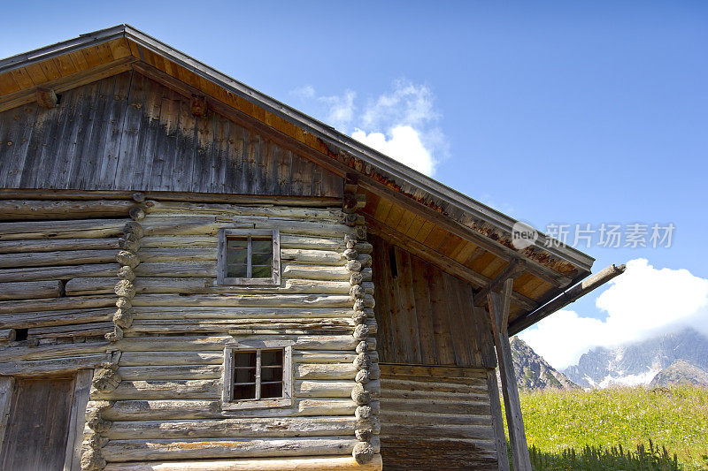
[[[38,211],[40,221],[0,223],[2,328],[27,329],[27,338],[9,335],[0,347],[0,375],[96,368],[83,469],[317,456],[332,457],[333,467],[381,467],[372,246],[363,227],[342,224],[341,209],[141,194],[108,203],[121,212],[97,219],[84,201],[85,213],[44,220]],[[281,285],[217,285],[222,227],[279,229]],[[230,338],[293,342],[292,406],[221,407]]]

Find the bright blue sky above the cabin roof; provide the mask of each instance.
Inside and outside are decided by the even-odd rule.
[[[584,249],[596,270],[708,278],[708,3],[13,2],[0,57],[119,23],[539,229],[675,225]],[[604,321],[596,299],[572,308]]]

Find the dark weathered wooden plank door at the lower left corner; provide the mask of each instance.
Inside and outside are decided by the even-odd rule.
[[[73,378],[17,379],[0,468],[61,470],[73,399]]]

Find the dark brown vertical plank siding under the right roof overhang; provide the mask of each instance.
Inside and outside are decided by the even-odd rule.
[[[370,236],[381,361],[494,368],[486,319],[473,313],[472,286]]]

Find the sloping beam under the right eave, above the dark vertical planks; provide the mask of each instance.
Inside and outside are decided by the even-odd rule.
[[[381,236],[383,239],[389,240],[389,242],[398,247],[403,247],[411,254],[414,254],[426,262],[435,265],[440,270],[446,271],[451,275],[465,280],[476,288],[482,288],[491,283],[491,280],[481,273],[477,273],[476,271],[467,268],[462,263],[436,252],[432,248],[421,244],[418,240],[411,239],[401,232],[397,232],[395,229],[390,228],[386,224],[381,224],[375,219],[368,218],[366,219],[366,226],[372,233]],[[531,306],[538,306],[538,303],[536,303],[535,300],[527,298],[527,296],[524,296],[519,292],[512,293],[512,300],[516,306],[519,306],[519,308],[523,308],[525,310],[535,309],[530,308]]]

